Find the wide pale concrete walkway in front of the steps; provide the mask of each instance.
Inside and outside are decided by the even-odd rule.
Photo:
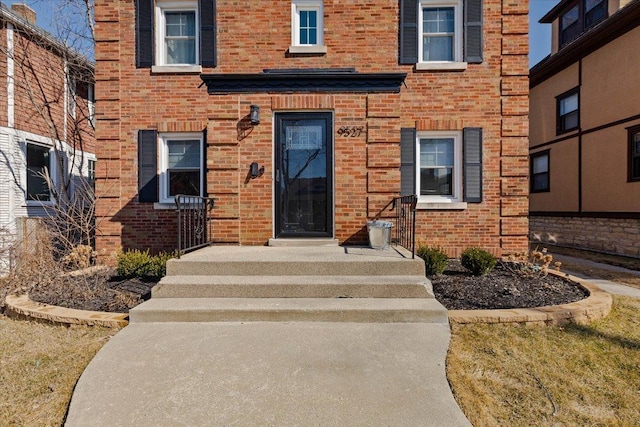
[[[469,426],[447,324],[133,323],[78,381],[66,425]]]

